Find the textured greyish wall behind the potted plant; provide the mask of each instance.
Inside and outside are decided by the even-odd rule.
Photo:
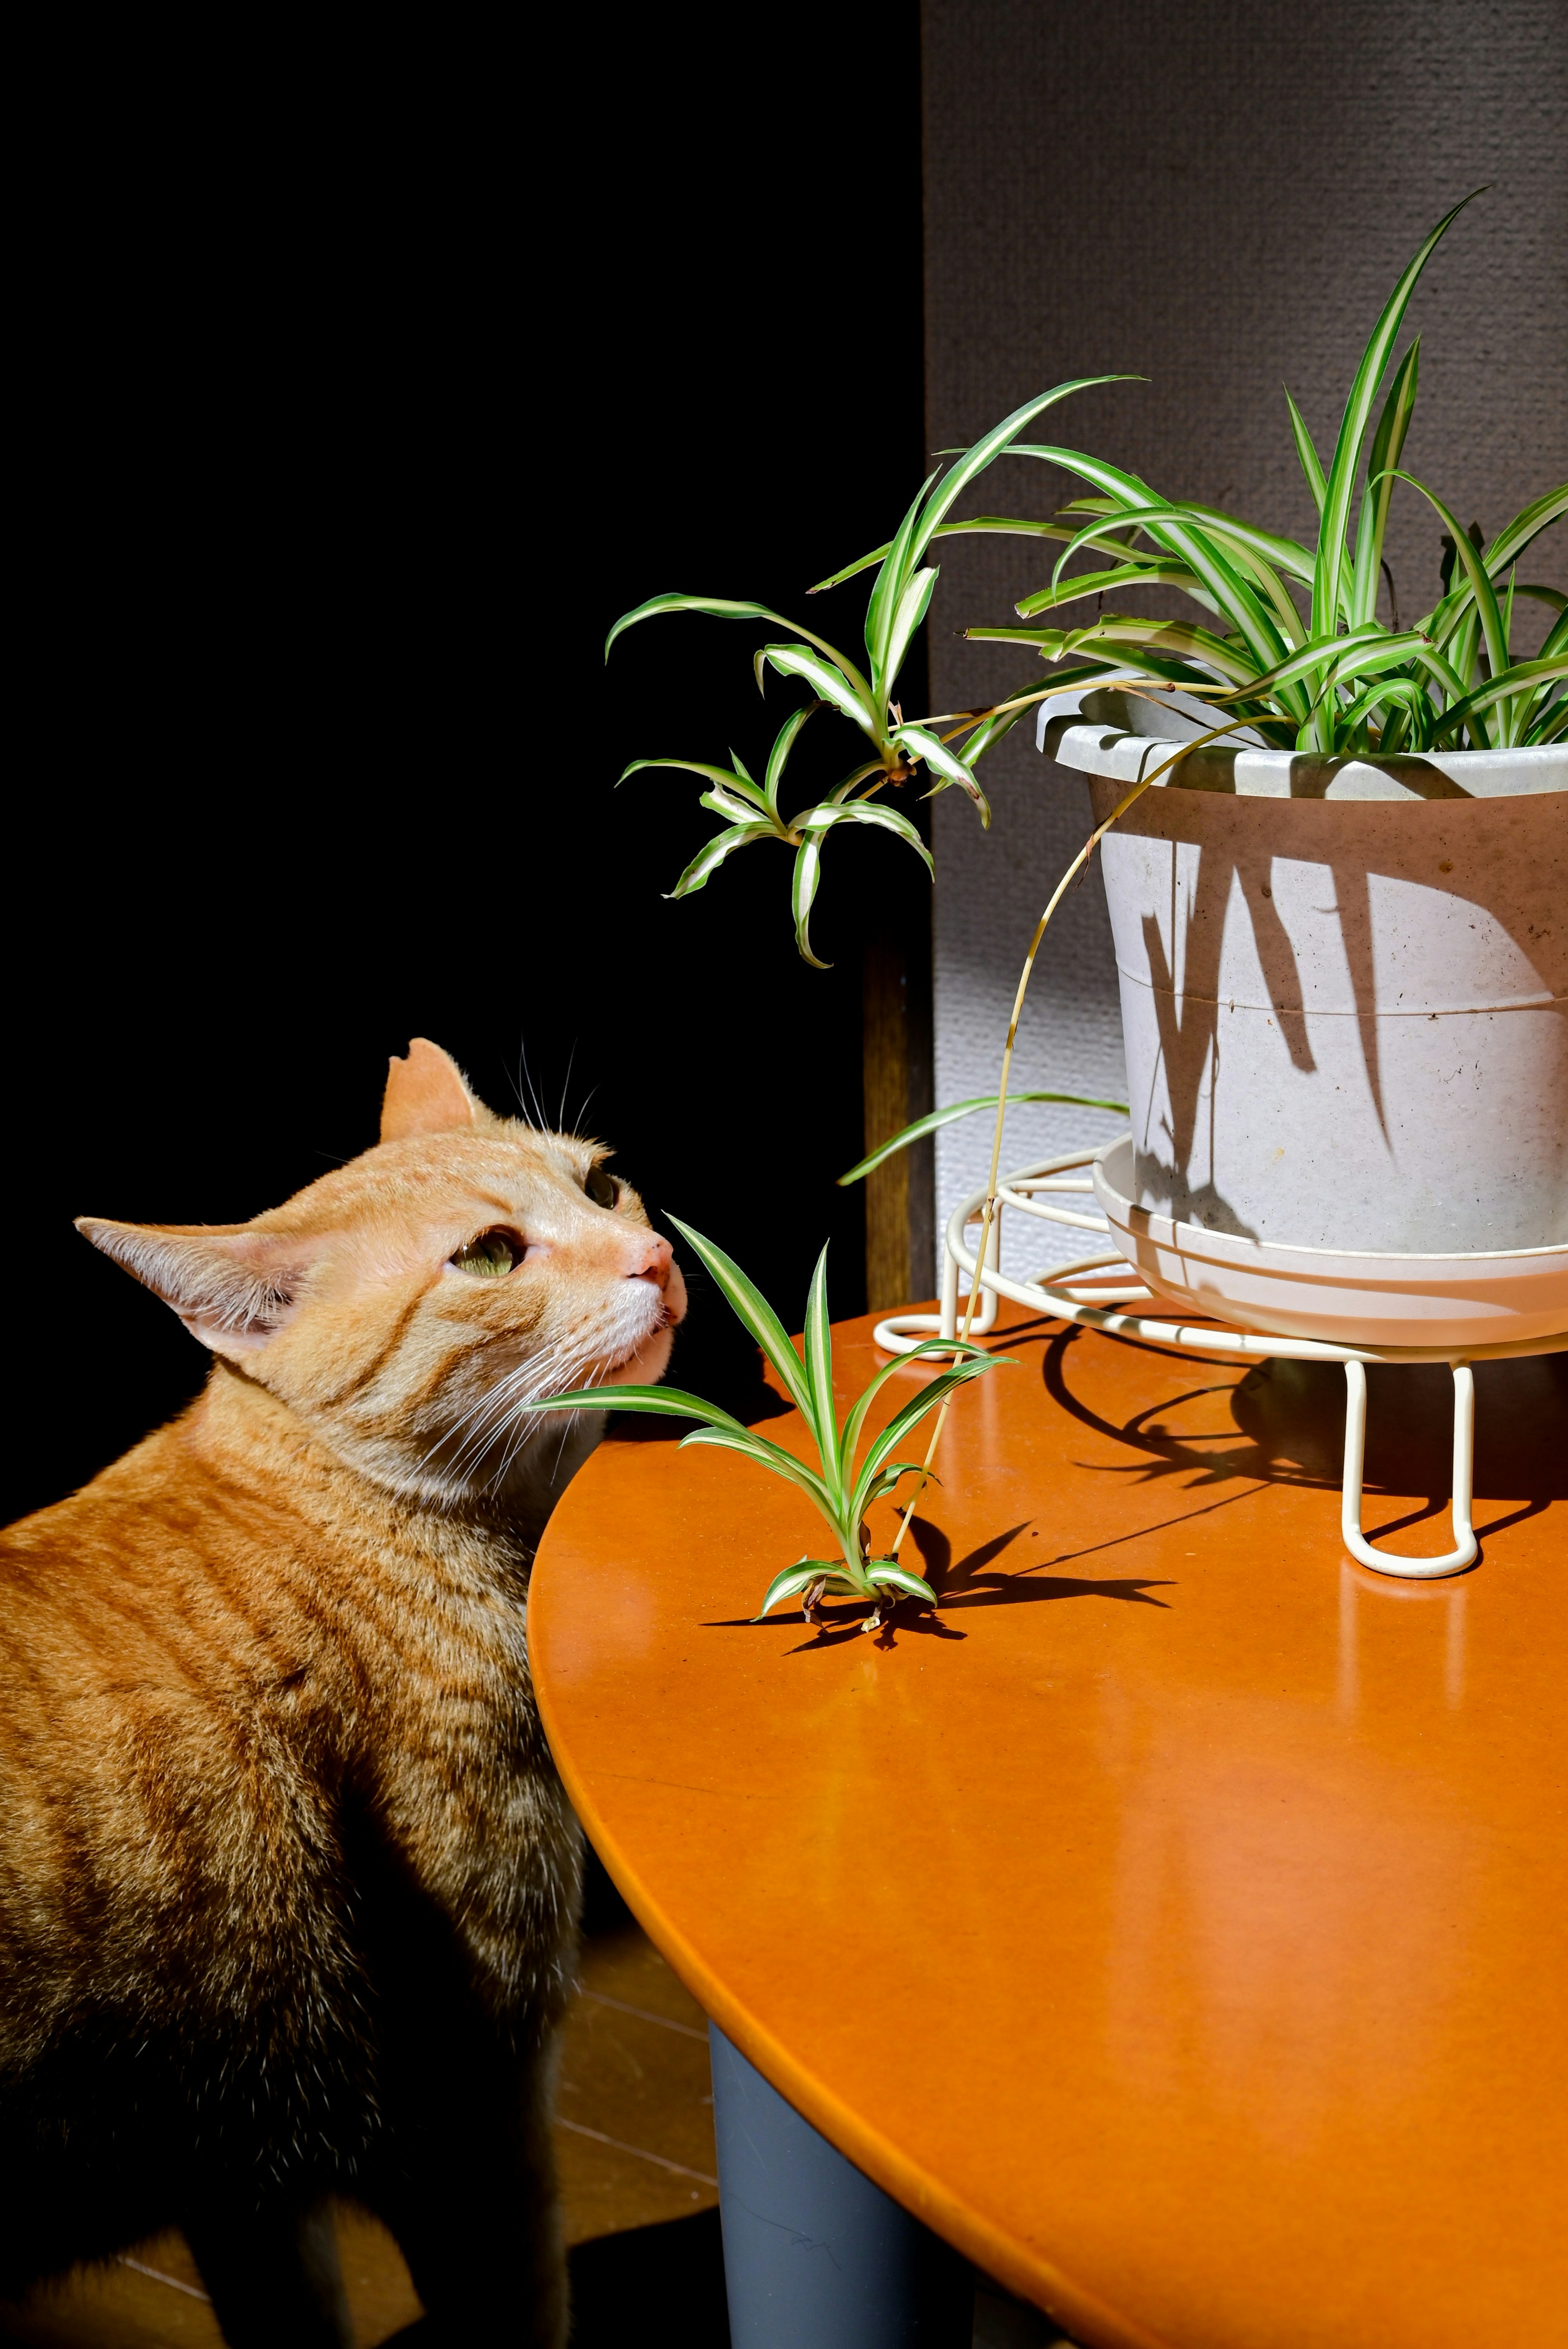
[[[1307,536],[1282,381],[1329,456],[1354,362],[1425,230],[1493,181],[1411,303],[1422,336],[1406,463],[1495,531],[1568,472],[1568,7],[1563,0],[925,0],[925,369],[932,449],[969,442],[1068,376],[1040,437],[1091,449],[1164,496]],[[1045,514],[1063,474],[1005,460],[972,512]],[[1437,517],[1399,491],[1390,561],[1404,618],[1437,597]],[[1559,526],[1535,573],[1568,587]],[[1049,561],[1023,540],[958,540],[932,611],[932,707],[1030,674],[962,644],[1009,622]],[[1145,606],[1157,608],[1157,606]],[[1176,606],[1167,606],[1176,608]],[[1387,618],[1387,608],[1385,608]],[[1545,615],[1542,615],[1545,625]],[[1028,930],[1080,846],[1084,789],[1019,728],[986,763],[984,836],[937,801],[937,1099],[995,1083]],[[1122,1092],[1099,874],[1052,926],[1016,1078]],[[1019,1163],[1110,1132],[1023,1111]],[[984,1182],[986,1120],[939,1142],[939,1217]],[[1009,1250],[1045,1261],[1030,1240]],[[1080,1254],[1068,1240],[1056,1252]]]

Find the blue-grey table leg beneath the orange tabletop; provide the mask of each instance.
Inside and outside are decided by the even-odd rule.
[[[873,2187],[716,2025],[732,2349],[969,2349],[974,2269]]]

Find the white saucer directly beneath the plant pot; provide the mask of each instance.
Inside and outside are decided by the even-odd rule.
[[[1110,1238],[1157,1297],[1331,1346],[1507,1346],[1568,1334],[1568,1240],[1469,1254],[1282,1247],[1134,1207],[1131,1135],[1094,1158]]]

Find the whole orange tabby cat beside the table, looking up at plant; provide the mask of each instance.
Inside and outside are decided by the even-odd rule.
[[[228,2342],[338,2349],[343,2194],[420,2340],[563,2340],[580,1842],[523,1602],[603,1421],[526,1405],[657,1379],[685,1308],[601,1156],[415,1038],[286,1207],[77,1226],[214,1367],[0,1536],[2,2297],[181,2225]]]

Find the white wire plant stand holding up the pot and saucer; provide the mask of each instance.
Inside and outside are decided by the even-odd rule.
[[[1113,1149],[1115,1144],[1106,1144]],[[972,1337],[984,1337],[995,1327],[998,1301],[1012,1304],[1054,1320],[1080,1322],[1089,1330],[1106,1330],[1110,1337],[1134,1339],[1143,1346],[1167,1346],[1174,1353],[1204,1353],[1221,1360],[1244,1362],[1343,1362],[1345,1365],[1345,1478],[1340,1501],[1340,1534],[1350,1555],[1371,1567],[1373,1574],[1392,1574],[1406,1581],[1432,1581],[1444,1574],[1462,1574],[1474,1564],[1479,1543],[1472,1525],[1474,1494],[1474,1426],[1476,1388],[1472,1362],[1502,1362],[1519,1355],[1568,1351],[1568,1330],[1549,1337],[1530,1337],[1512,1344],[1467,1346],[1340,1346],[1326,1339],[1279,1337],[1275,1332],[1242,1330],[1223,1320],[1169,1320],[1160,1306],[1169,1308],[1145,1285],[1124,1254],[1080,1257],[1073,1264],[1049,1264],[1033,1280],[1016,1280],[1000,1268],[1002,1214],[1026,1217],[1040,1224],[1066,1224],[1073,1231],[1110,1236],[1110,1224],[1099,1212],[1089,1167],[1101,1151],[1091,1144],[1082,1151],[1066,1151],[1061,1158],[1042,1158],[1035,1165],[1005,1174],[995,1193],[995,1214],[986,1240],[986,1261],[976,1264],[969,1245],[969,1226],[984,1221],[986,1191],[974,1191],[948,1217],[941,1264],[941,1311],[939,1313],[890,1313],[876,1325],[873,1339],[883,1353],[911,1353],[920,1339],[958,1337],[967,1294],[979,1283],[981,1297],[969,1322]],[[1066,1205],[1080,1200],[1080,1205]],[[960,1273],[969,1292],[960,1294]],[[1361,1532],[1361,1473],[1366,1459],[1366,1365],[1368,1362],[1446,1362],[1453,1372],[1453,1548],[1441,1557],[1406,1557],[1394,1550],[1373,1550]]]

